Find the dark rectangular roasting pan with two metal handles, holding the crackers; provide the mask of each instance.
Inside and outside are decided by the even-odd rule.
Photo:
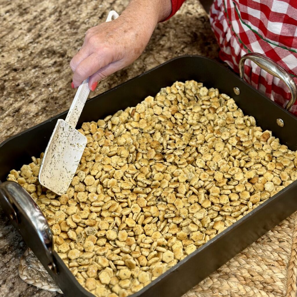
[[[268,72],[282,78],[296,98],[296,85],[272,61],[259,54],[248,54]],[[242,76],[242,69],[241,69]],[[97,121],[128,106],[135,106],[160,88],[176,80],[197,80],[206,87],[218,88],[236,101],[245,114],[252,115],[263,130],[273,131],[291,150],[297,149],[297,119],[284,108],[253,89],[236,74],[219,63],[200,56],[181,56],[133,78],[86,102],[78,126],[84,121]],[[290,104],[292,104],[290,102]],[[65,119],[67,111],[0,144],[0,202],[28,246],[61,288],[66,297],[94,297],[86,291],[53,250],[53,237],[45,217],[20,185],[5,181],[11,169],[19,169],[39,157],[46,148],[57,119]],[[13,156],[13,158],[11,157]],[[170,268],[133,297],[178,297],[226,263],[260,236],[297,210],[297,181],[274,195],[222,233],[211,239],[184,260]]]

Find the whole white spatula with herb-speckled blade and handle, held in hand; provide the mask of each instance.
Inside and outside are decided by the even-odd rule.
[[[119,15],[110,11],[107,22]],[[86,147],[86,136],[75,129],[89,96],[89,78],[78,87],[65,121],[59,119],[50,137],[39,171],[39,182],[58,195],[65,194]]]

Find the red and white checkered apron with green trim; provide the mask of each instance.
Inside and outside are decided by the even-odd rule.
[[[284,67],[297,83],[297,0],[216,0],[211,26],[220,58],[234,71],[246,53],[262,53]],[[287,86],[251,61],[245,79],[281,106],[291,98]],[[291,112],[297,115],[297,102]]]

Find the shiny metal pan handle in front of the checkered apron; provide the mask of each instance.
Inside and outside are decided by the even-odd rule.
[[[251,60],[259,67],[272,74],[273,76],[282,80],[290,90],[291,99],[287,103],[285,109],[290,110],[291,106],[295,103],[297,97],[297,86],[290,73],[284,68],[279,66],[276,62],[260,53],[247,53],[243,55],[239,61],[239,75],[243,79],[244,77],[244,61]]]

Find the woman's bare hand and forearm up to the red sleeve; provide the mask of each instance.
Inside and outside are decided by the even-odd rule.
[[[135,61],[156,24],[170,11],[170,0],[132,0],[119,18],[89,29],[70,62],[72,88],[89,77],[89,88],[94,91],[99,80]]]

